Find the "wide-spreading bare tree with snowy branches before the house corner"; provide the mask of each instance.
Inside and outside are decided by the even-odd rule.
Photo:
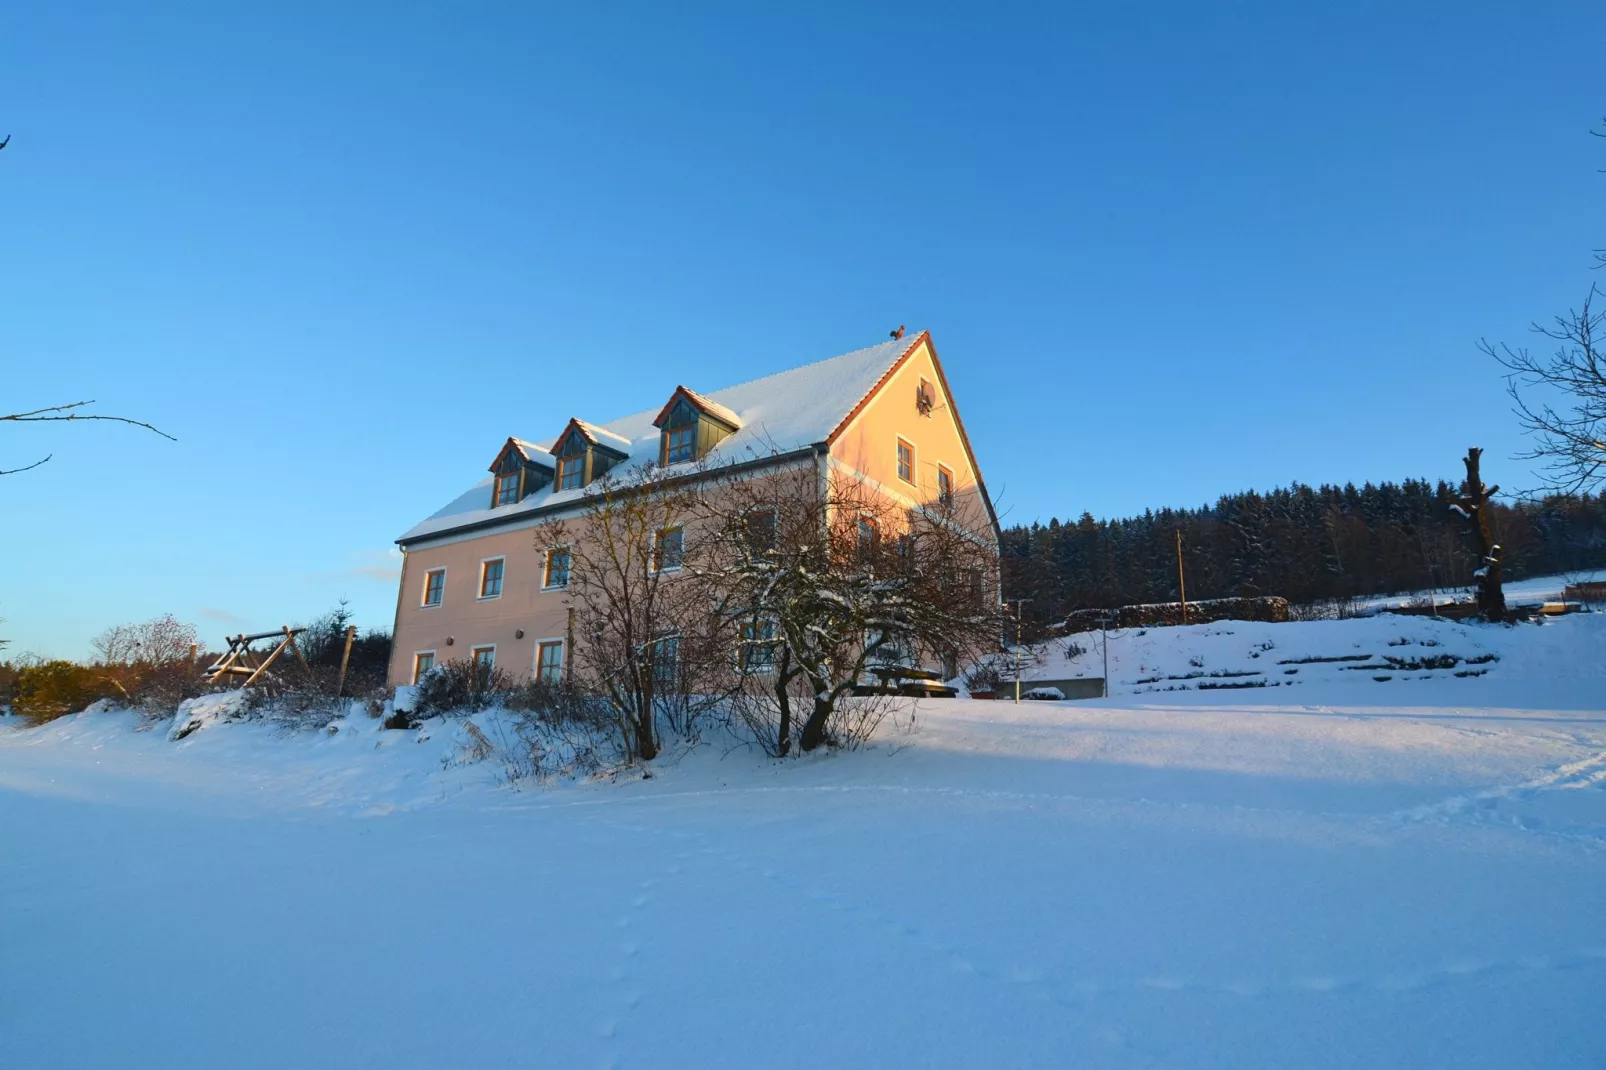
[[[768,676],[774,752],[830,742],[870,670],[922,655],[956,665],[997,649],[997,551],[952,498],[904,508],[867,480],[808,461],[699,498],[708,601],[737,628],[736,662]],[[793,709],[793,702],[798,709]]]

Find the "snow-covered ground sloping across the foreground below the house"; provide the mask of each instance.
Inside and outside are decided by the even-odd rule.
[[[1606,615],[1423,638],[1500,657],[525,790],[454,725],[0,728],[0,1067],[1600,1067]]]

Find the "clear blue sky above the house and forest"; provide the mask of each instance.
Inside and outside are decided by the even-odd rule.
[[[1527,468],[1606,5],[0,13],[0,635],[350,598],[507,434],[930,328],[1005,522]],[[0,426],[5,427],[5,426]]]

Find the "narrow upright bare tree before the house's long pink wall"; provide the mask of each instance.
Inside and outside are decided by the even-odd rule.
[[[697,493],[652,466],[607,474],[580,517],[535,533],[538,551],[569,554],[570,680],[607,702],[630,758],[658,755],[660,718],[692,734],[724,697],[729,636],[702,596],[703,548],[686,530]]]

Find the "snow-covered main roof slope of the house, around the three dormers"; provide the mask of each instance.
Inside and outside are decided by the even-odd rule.
[[[729,413],[734,418],[732,423],[739,427],[739,431],[710,450],[703,463],[719,464],[792,453],[825,442],[830,432],[882,381],[882,376],[904,353],[914,349],[922,337],[920,331],[911,331],[901,339],[856,349],[842,357],[819,360],[813,365],[764,376],[763,379],[697,395],[699,400],[718,406],[711,411],[719,415],[721,419],[724,416],[719,410]],[[575,423],[588,435],[594,435],[593,442],[601,442],[630,456],[628,461],[622,461],[613,468],[613,474],[628,477],[631,469],[655,463],[658,458],[660,432],[652,421],[657,419],[660,411],[660,406],[654,406],[605,424]],[[525,445],[525,440],[517,442],[520,442],[520,448]],[[556,443],[556,439],[536,442],[536,450],[548,451]],[[671,466],[668,471],[675,468],[689,468],[689,464]],[[430,535],[443,535],[459,527],[471,527],[487,521],[514,521],[528,513],[578,501],[588,493],[583,487],[573,490],[541,490],[516,504],[488,508],[491,500],[490,488],[491,480],[480,479],[424,521],[414,524],[397,541],[406,543]]]

